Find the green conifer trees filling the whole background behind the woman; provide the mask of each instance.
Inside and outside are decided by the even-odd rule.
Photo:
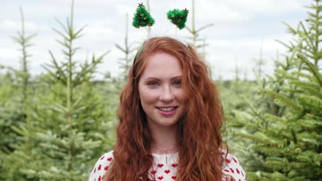
[[[314,2],[309,8],[315,12],[309,12],[307,23],[297,28],[288,25],[296,38],[290,45],[282,43],[290,53],[284,61],[277,58],[274,74],[261,80],[259,67],[257,82],[241,81],[238,73],[235,81],[217,82],[227,130],[235,131],[233,135],[224,132],[224,140],[248,180],[321,178],[321,1]],[[195,28],[192,3],[193,23],[186,29],[204,56],[207,44],[200,32],[212,24]],[[135,27],[142,22],[153,25],[149,1],[147,9],[138,7]],[[14,37],[22,47],[21,70],[0,65],[6,71],[0,74],[0,180],[87,180],[97,158],[111,150],[116,140],[118,92],[124,81],[92,79],[106,53],[83,63],[74,60],[80,49],[73,46],[74,41],[85,26],[74,29],[73,8],[67,26],[58,23],[62,31],[54,31],[62,38],[57,42],[65,60],[57,60],[50,51],[52,63],[43,66],[47,72],[31,79],[28,47],[34,35],[26,36],[22,23]],[[116,47],[125,55],[119,63],[126,79],[136,49],[129,45],[127,31],[125,45]]]

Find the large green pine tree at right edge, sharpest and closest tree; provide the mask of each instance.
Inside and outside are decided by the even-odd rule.
[[[306,25],[288,25],[295,37],[274,75],[259,84],[261,97],[248,111],[235,111],[231,125],[251,141],[244,155],[249,180],[321,180],[321,1],[308,8]],[[249,141],[246,141],[249,143]],[[255,158],[254,158],[255,157]]]

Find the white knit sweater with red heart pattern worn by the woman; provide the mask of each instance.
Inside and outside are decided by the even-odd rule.
[[[151,175],[155,175],[157,180],[173,181],[177,176],[178,166],[178,152],[175,154],[152,154],[154,157],[154,165],[149,170]],[[222,156],[226,156],[225,152],[222,152]],[[89,176],[89,181],[102,181],[105,172],[109,169],[109,165],[113,160],[113,151],[103,154],[95,164],[92,173]],[[246,173],[239,164],[237,158],[228,152],[225,159],[222,173],[222,181],[236,180],[246,181]],[[150,178],[151,179],[151,178]]]

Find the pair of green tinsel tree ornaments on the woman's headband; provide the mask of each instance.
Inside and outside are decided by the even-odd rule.
[[[179,29],[183,29],[186,23],[186,17],[189,14],[189,10],[170,10],[167,12],[167,17],[171,23],[175,24]],[[153,26],[154,19],[151,14],[145,9],[143,3],[139,3],[136,8],[136,14],[134,14],[132,25],[136,28]]]

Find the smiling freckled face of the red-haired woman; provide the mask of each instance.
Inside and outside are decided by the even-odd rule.
[[[186,97],[182,88],[182,68],[175,56],[162,51],[149,56],[138,91],[150,126],[173,126],[183,116]]]

